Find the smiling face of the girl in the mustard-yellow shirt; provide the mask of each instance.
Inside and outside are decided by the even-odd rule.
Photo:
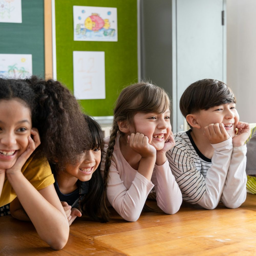
[[[19,100],[0,100],[0,168],[9,169],[28,147],[31,112]]]

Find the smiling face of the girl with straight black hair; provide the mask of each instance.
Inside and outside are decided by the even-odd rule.
[[[68,164],[65,168],[65,172],[72,177],[76,177],[80,181],[90,180],[92,174],[98,168],[101,161],[101,150],[94,148],[92,150],[86,150],[80,155],[80,158],[76,165]]]

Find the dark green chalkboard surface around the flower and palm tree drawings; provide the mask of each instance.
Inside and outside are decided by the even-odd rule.
[[[44,1],[22,0],[22,23],[0,22],[1,54],[32,54],[33,74],[44,78]]]

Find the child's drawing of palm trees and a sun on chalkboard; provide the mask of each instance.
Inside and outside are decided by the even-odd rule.
[[[0,77],[27,78],[32,76],[31,54],[0,54]]]

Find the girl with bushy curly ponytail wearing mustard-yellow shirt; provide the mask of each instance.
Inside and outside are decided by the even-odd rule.
[[[12,216],[31,220],[54,249],[65,246],[69,224],[47,159],[74,163],[90,145],[84,127],[79,104],[59,82],[0,79],[0,206],[10,203]]]

